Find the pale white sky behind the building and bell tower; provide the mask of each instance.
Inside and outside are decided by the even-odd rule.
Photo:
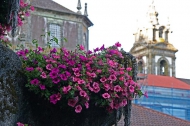
[[[54,1],[77,12],[78,0]],[[88,18],[94,24],[89,28],[89,48],[120,42],[129,52],[134,44],[133,33],[145,21],[152,0],[81,0],[82,14],[85,3]],[[169,42],[178,49],[176,77],[190,79],[190,0],[154,0],[154,5],[159,24],[166,25],[169,17],[173,31]]]

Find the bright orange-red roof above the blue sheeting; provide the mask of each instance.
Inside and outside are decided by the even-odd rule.
[[[152,74],[148,74],[147,76],[147,85],[156,86],[156,87],[190,90],[189,84],[175,77],[152,75]]]

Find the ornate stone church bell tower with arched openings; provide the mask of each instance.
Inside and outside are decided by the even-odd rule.
[[[130,53],[137,57],[138,73],[176,76],[175,53],[170,43],[170,24],[160,25],[154,2],[149,6],[147,25],[134,34],[135,43]]]

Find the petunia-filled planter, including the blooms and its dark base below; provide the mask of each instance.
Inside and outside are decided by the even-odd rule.
[[[94,51],[83,46],[75,51],[53,48],[48,54],[37,41],[33,44],[35,50],[17,54],[23,62],[25,86],[31,91],[32,111],[36,109],[43,125],[110,126],[120,119],[121,108],[130,108],[131,100],[143,95],[135,82],[136,60],[120,50],[120,43]]]

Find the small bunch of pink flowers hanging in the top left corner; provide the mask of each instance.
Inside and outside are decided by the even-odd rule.
[[[8,4],[6,2],[4,2],[4,4]],[[4,6],[0,6],[1,9],[3,9]],[[4,8],[7,10],[7,8]],[[30,4],[24,2],[24,0],[20,0],[20,10],[18,12],[18,26],[22,26],[23,25],[23,21],[25,20],[25,16],[28,17],[30,15],[30,12],[34,11],[34,7],[31,6]],[[0,15],[1,17],[1,15]],[[6,16],[5,16],[6,17]],[[5,18],[4,17],[4,18]],[[3,18],[3,17],[1,17]],[[6,20],[6,18],[4,19]],[[0,39],[3,39],[3,36],[6,35],[6,32],[9,32],[12,28],[11,28],[11,24],[7,24],[6,21],[2,20],[2,22],[0,23]]]

